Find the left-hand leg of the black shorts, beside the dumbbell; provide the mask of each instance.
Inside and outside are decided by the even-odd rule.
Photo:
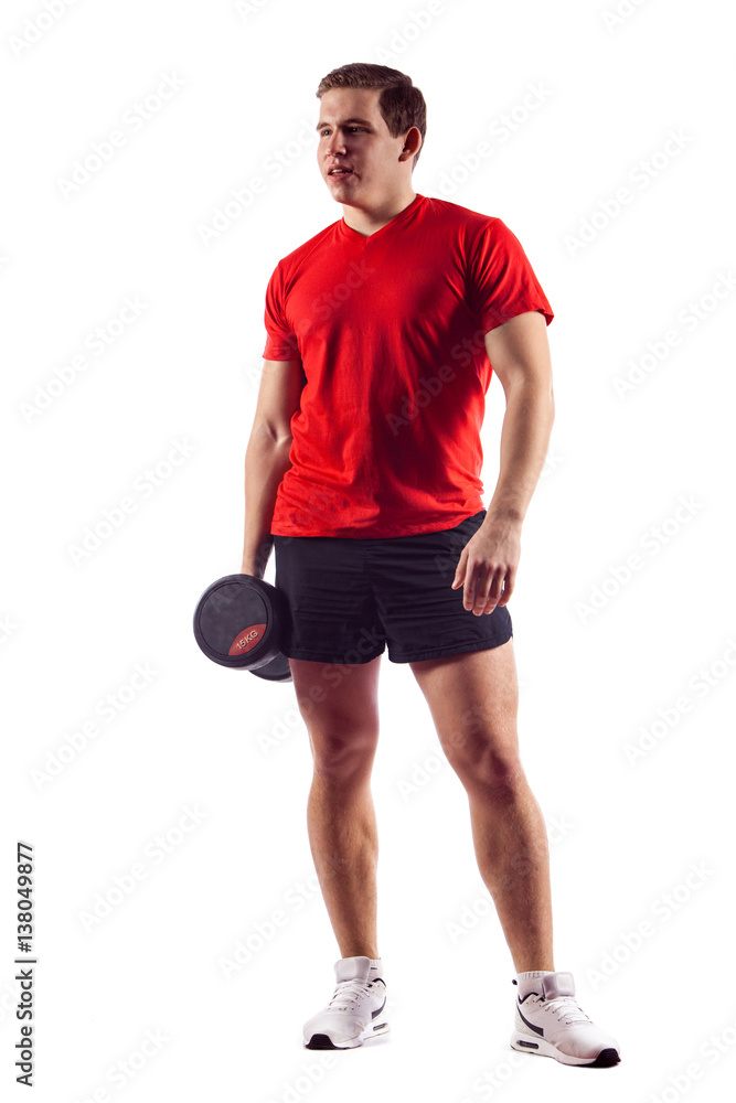
[[[317,663],[370,663],[385,634],[365,576],[363,542],[274,536],[276,589],[288,604],[281,651]]]

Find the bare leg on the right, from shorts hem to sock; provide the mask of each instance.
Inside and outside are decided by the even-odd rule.
[[[478,868],[514,967],[554,972],[550,848],[519,760],[513,641],[410,665],[468,793]]]

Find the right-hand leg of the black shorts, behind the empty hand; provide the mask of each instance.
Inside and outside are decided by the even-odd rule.
[[[393,663],[466,654],[504,644],[513,634],[505,606],[476,617],[463,589],[452,589],[460,555],[486,511],[454,528],[374,540],[367,570]]]

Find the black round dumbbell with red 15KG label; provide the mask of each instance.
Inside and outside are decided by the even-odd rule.
[[[209,586],[194,610],[194,639],[213,663],[250,671],[267,682],[292,682],[281,641],[289,606],[255,575],[224,575]]]

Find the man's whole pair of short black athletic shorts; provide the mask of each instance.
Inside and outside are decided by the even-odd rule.
[[[353,538],[274,534],[276,588],[289,603],[288,658],[369,663],[388,644],[392,663],[498,647],[512,635],[505,606],[477,617],[452,589],[462,548],[486,510],[454,528]]]

